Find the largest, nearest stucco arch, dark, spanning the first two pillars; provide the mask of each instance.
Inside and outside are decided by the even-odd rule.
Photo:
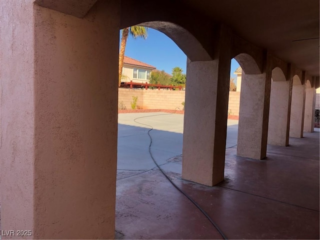
[[[208,21],[205,15],[197,18],[198,24],[190,16],[194,9],[171,0],[153,1],[157,7],[147,2],[136,4],[122,0],[120,5],[119,28],[143,25],[161,31],[170,37],[191,61],[208,61],[215,57],[219,25]],[[171,7],[165,7],[169,4]],[[143,11],[140,9],[143,8]],[[179,9],[177,12],[176,9]],[[163,14],[165,12],[165,14]],[[181,12],[183,12],[181,14]],[[211,29],[208,31],[207,29]]]

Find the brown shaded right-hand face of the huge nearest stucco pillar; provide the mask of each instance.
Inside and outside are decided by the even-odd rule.
[[[35,236],[113,238],[118,1],[35,10]]]

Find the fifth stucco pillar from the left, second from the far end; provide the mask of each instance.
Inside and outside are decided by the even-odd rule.
[[[297,77],[297,76],[295,76]],[[291,137],[303,137],[305,86],[293,77],[290,131]]]

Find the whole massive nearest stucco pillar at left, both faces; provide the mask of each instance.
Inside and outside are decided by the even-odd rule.
[[[84,18],[0,1],[1,229],[113,238],[118,24],[115,0]]]

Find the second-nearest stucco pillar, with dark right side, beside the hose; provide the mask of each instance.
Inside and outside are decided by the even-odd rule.
[[[187,62],[182,178],[215,185],[224,177],[230,76],[230,37],[222,35],[217,59]]]

